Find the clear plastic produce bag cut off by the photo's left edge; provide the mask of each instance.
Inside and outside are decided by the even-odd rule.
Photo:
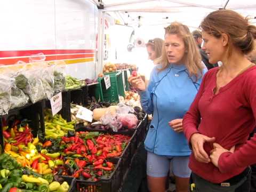
[[[10,109],[12,83],[10,78],[0,76],[0,115],[5,115]]]

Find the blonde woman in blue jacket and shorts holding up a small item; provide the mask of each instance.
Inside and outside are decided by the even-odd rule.
[[[165,28],[165,40],[159,65],[151,72],[149,85],[140,77],[129,82],[140,92],[142,108],[154,114],[145,140],[148,188],[165,191],[172,163],[176,191],[187,192],[191,153],[183,134],[182,118],[193,102],[206,72],[193,36],[187,26],[174,22]]]

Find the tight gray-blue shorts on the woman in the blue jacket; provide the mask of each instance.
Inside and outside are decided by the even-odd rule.
[[[189,156],[165,156],[148,152],[147,175],[150,177],[166,177],[170,163],[173,174],[180,178],[189,178],[191,170],[188,167]]]

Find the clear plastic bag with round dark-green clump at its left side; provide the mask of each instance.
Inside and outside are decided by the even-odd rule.
[[[26,93],[33,103],[46,99],[42,79],[38,76],[40,73],[42,71],[39,69],[26,69],[25,67],[15,77],[17,87]]]

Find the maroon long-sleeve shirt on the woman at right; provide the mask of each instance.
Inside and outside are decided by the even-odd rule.
[[[220,183],[241,173],[248,165],[256,163],[256,136],[247,141],[255,127],[256,118],[256,66],[244,71],[213,94],[219,68],[209,70],[189,111],[183,118],[183,129],[190,141],[193,133],[215,137],[215,142],[235,153],[223,153],[218,167],[200,163],[190,156],[189,167],[200,177]],[[205,143],[208,155],[212,143]]]

